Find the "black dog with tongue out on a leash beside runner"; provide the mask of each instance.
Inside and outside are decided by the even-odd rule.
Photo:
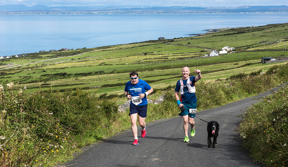
[[[207,132],[208,132],[208,147],[215,148],[217,145],[217,136],[219,131],[219,124],[216,121],[210,121],[207,124]],[[213,137],[213,143],[211,142],[211,138]]]

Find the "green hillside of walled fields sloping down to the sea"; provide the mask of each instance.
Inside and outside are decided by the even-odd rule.
[[[154,88],[174,85],[181,68],[200,69],[204,81],[226,79],[233,74],[262,70],[262,57],[287,57],[288,24],[226,28],[195,37],[83,48],[69,51],[30,53],[1,59],[0,82],[18,83],[26,92],[39,90],[90,89],[122,94],[130,71],[139,72]],[[229,45],[236,52],[205,56]],[[288,48],[287,48],[288,49]],[[278,63],[283,64],[283,63]],[[163,84],[165,83],[165,84]]]

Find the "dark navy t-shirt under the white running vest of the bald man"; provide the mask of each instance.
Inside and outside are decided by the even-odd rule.
[[[195,76],[190,76],[190,85],[191,86],[195,86],[195,82],[196,82],[195,78],[196,78]],[[184,85],[183,92],[184,92],[184,94],[182,94],[180,96],[180,101],[183,104],[191,104],[191,103],[194,103],[194,102],[197,101],[196,94],[195,93],[190,93],[188,91],[187,86],[185,86],[186,83],[187,83],[187,80],[188,79],[183,80],[183,85]],[[176,83],[175,92],[180,92],[180,87],[181,87],[181,85],[180,85],[180,80],[179,80]]]

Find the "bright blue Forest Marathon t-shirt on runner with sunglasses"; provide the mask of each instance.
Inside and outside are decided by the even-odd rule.
[[[150,90],[151,86],[144,80],[139,79],[138,83],[136,85],[132,84],[130,81],[128,81],[125,85],[124,91],[129,92],[129,94],[133,96],[139,96],[141,93],[145,93],[146,90]],[[142,103],[139,105],[147,105],[147,97],[144,96],[142,98]],[[132,102],[130,102],[130,105],[134,105]]]

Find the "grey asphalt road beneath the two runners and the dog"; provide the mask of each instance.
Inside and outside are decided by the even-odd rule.
[[[195,136],[189,137],[189,143],[183,143],[183,118],[178,116],[147,123],[145,138],[141,137],[139,126],[137,146],[132,145],[134,138],[131,130],[126,130],[99,144],[86,147],[83,153],[63,166],[264,166],[255,162],[248,150],[241,146],[237,132],[241,117],[238,115],[245,108],[257,103],[258,97],[270,93],[271,91],[267,91],[252,98],[196,113],[203,120],[215,120],[220,124],[218,145],[215,148],[208,148],[207,145],[207,122],[197,117],[194,119]],[[190,128],[188,131],[190,134]]]

